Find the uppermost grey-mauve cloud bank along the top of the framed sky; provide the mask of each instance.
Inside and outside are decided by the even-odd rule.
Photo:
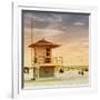
[[[88,28],[89,23],[89,16],[87,14],[63,12],[27,11],[23,13],[23,19],[24,28],[31,28],[32,22],[32,27],[36,29],[52,29],[60,31],[67,31],[69,28],[72,30],[76,26],[77,28]]]

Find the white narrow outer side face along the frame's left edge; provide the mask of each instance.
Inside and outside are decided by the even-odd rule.
[[[17,7],[12,3],[12,97],[18,96],[18,13]]]

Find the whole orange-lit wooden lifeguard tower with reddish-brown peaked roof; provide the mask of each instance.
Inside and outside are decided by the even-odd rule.
[[[49,78],[54,76],[57,64],[52,62],[52,49],[60,47],[44,39],[29,46],[33,48],[33,78]]]

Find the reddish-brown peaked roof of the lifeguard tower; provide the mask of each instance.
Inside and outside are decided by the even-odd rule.
[[[53,44],[52,42],[49,42],[44,39],[37,41],[36,43],[32,43],[29,46],[29,48],[34,48],[34,47],[50,47],[50,48],[57,48],[60,47],[60,44]]]

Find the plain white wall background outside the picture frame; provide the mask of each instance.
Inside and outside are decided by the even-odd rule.
[[[17,0],[16,0],[17,1]],[[23,1],[23,0],[19,0]],[[72,94],[66,93],[56,94],[51,97],[36,97],[37,100],[100,100],[100,0],[26,0],[37,2],[53,2],[80,6],[97,6],[98,7],[98,92],[88,94]],[[0,0],[0,100],[11,100],[11,0]],[[48,91],[48,90],[47,90]],[[64,92],[64,90],[63,90]],[[27,100],[27,99],[26,99]],[[29,100],[29,99],[28,99]]]

